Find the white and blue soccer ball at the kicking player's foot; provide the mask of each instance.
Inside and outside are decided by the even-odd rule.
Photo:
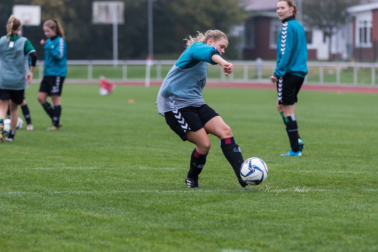
[[[268,167],[260,158],[248,158],[240,167],[240,176],[247,184],[257,186],[268,176]]]

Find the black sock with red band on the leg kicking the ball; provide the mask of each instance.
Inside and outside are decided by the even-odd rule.
[[[242,166],[244,159],[239,145],[235,143],[235,139],[231,138],[220,139],[220,148],[222,148],[223,155],[234,169],[235,175],[240,180],[240,167]]]

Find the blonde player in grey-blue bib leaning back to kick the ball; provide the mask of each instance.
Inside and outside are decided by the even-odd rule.
[[[231,164],[242,187],[247,184],[240,178],[243,156],[235,143],[231,128],[215,110],[205,104],[202,90],[206,84],[207,64],[219,64],[225,75],[234,71],[234,65],[222,59],[228,46],[227,36],[218,30],[197,37],[189,36],[187,48],[167,74],[157,96],[158,113],[183,141],[196,145],[185,183],[188,188],[198,187],[206,156],[210,150],[208,134],[217,136],[226,159]]]

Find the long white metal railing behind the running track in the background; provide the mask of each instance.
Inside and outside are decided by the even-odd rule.
[[[164,79],[164,76],[162,76],[162,70],[161,66],[168,65],[172,66],[176,60],[152,60],[152,65],[156,66],[156,78],[151,79],[155,81],[159,81]],[[276,68],[276,62],[275,61],[230,61],[234,64],[235,69],[243,69],[242,74],[239,74],[239,77],[234,77],[234,74],[231,74],[229,77],[225,77],[225,75],[222,73],[222,69],[219,71],[219,78],[212,78],[211,80],[220,80],[228,82],[269,82],[269,77],[271,73],[273,73],[274,69]],[[43,60],[37,61],[37,65],[39,66],[39,81],[43,76]],[[70,65],[86,65],[87,66],[87,79],[86,81],[91,82],[93,81],[93,66],[97,65],[113,65],[113,66],[122,66],[122,78],[116,79],[119,81],[127,81],[130,80],[128,78],[127,74],[127,68],[131,65],[144,65],[146,66],[146,73],[149,73],[147,69],[150,67],[148,62],[146,60],[68,60],[67,61],[68,67]],[[319,84],[336,84],[341,85],[345,82],[341,82],[341,75],[343,71],[345,70],[349,71],[349,75],[352,74],[352,80],[349,80],[347,83],[352,85],[359,85],[359,84],[365,84],[365,85],[371,85],[372,87],[376,86],[376,77],[375,77],[375,71],[378,68],[378,63],[359,63],[359,62],[307,62],[307,66],[309,68],[309,75],[313,71],[318,75],[316,77],[315,81],[311,80],[311,83],[319,83]],[[361,73],[361,69],[362,71]],[[149,69],[148,69],[149,70]],[[254,77],[251,78],[250,71],[254,71]],[[335,71],[335,73],[333,73]],[[335,80],[327,81],[325,82],[325,76],[330,74],[332,72],[333,75],[335,75]],[[369,83],[365,82],[359,82],[359,72],[360,74],[364,74],[366,77],[366,74],[368,73],[369,76]],[[268,73],[268,75],[267,75]],[[308,75],[308,76],[309,76]],[[333,76],[332,75],[332,76]],[[242,77],[240,77],[242,76]],[[307,76],[307,77],[308,77]],[[148,76],[146,76],[147,78]],[[307,77],[305,82],[307,82]],[[314,79],[314,74],[312,74],[312,79]],[[329,77],[328,77],[329,79]],[[350,77],[349,77],[350,79]],[[366,78],[365,78],[366,79]],[[74,79],[70,79],[68,76],[67,81],[74,82]],[[83,79],[81,79],[82,81]],[[98,80],[97,78],[95,79]],[[141,79],[143,80],[143,79]],[[371,82],[370,82],[371,80]]]

